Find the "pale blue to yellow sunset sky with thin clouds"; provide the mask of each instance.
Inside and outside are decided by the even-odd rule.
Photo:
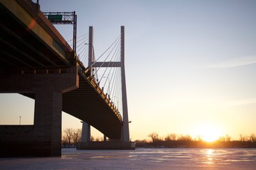
[[[125,26],[130,138],[256,134],[256,1],[40,0],[94,28],[95,55]],[[72,26],[58,26],[66,40]],[[16,107],[11,108],[12,103]],[[15,110],[16,109],[16,110]],[[0,94],[0,124],[33,124],[33,100]],[[81,128],[63,113],[63,129]],[[92,130],[95,137],[98,134]]]

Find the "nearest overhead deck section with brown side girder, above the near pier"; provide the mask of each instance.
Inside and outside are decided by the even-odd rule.
[[[31,10],[35,6],[28,2],[0,4],[0,15],[4,16],[0,18],[1,71],[34,72],[69,66],[71,47],[43,13]]]

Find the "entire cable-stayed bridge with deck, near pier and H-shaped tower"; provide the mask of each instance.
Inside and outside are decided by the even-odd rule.
[[[131,149],[124,26],[119,36],[120,61],[95,60],[90,27],[88,42],[83,43],[88,50],[85,62],[40,11],[39,4],[31,0],[0,0],[0,9],[0,92],[35,99],[33,125],[0,125],[0,157],[60,156],[62,111],[83,121],[80,148],[90,144],[92,125],[110,139],[107,146]],[[122,113],[113,99],[118,97],[110,97],[110,78],[103,76],[99,81],[97,77],[100,68],[114,67],[121,70]],[[104,84],[109,81],[108,94],[100,87],[102,78]]]

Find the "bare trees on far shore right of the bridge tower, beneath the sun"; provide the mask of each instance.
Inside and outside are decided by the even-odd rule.
[[[190,135],[171,133],[159,137],[157,132],[151,132],[148,140],[136,140],[137,147],[256,147],[256,135],[240,135],[239,140],[232,140],[229,135],[221,136],[214,142],[205,142],[202,137],[193,138]]]

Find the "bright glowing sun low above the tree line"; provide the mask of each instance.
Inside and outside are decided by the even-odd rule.
[[[220,129],[213,125],[201,125],[197,134],[206,142],[214,142],[220,137]]]

